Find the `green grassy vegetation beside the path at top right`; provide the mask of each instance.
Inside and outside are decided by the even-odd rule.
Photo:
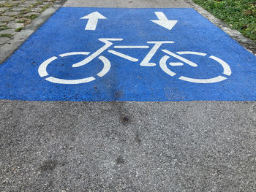
[[[255,0],[193,0],[217,18],[256,42]]]

